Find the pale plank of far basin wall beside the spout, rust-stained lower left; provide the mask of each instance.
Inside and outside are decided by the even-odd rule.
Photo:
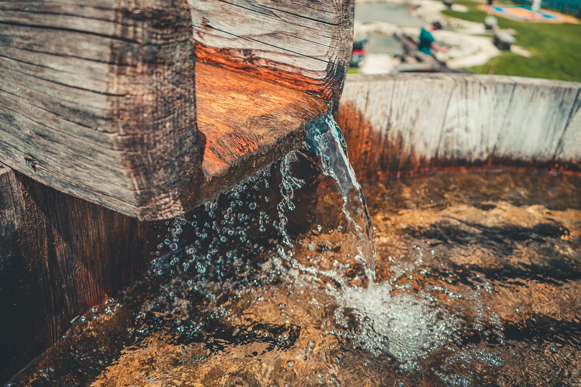
[[[349,75],[336,120],[358,178],[427,167],[437,157],[453,88],[447,74]]]

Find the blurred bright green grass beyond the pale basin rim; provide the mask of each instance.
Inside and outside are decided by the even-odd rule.
[[[444,10],[442,13],[484,22],[486,13],[476,8],[478,3],[469,0],[455,2],[467,6],[468,12]],[[500,28],[517,31],[517,45],[529,50],[532,56],[527,58],[506,52],[468,70],[487,74],[490,65],[494,64],[494,74],[581,81],[581,24],[527,23],[498,16],[497,19]]]

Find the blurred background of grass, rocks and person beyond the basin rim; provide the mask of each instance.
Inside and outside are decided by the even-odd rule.
[[[581,81],[580,17],[581,0],[357,0],[349,72]],[[436,44],[429,55],[418,49],[422,28]]]

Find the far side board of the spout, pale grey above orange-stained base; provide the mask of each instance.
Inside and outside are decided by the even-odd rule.
[[[200,60],[338,101],[353,0],[189,0]]]

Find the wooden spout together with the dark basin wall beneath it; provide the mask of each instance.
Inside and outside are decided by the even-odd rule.
[[[0,2],[0,382],[335,110],[353,0]],[[145,222],[154,221],[154,222]]]

